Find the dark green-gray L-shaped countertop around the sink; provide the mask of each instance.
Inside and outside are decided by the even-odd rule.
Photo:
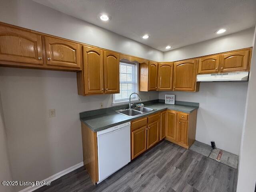
[[[143,103],[145,107],[149,107],[155,110],[138,117],[128,117],[115,112],[115,110],[118,110],[118,109],[128,108],[127,105],[117,106],[117,107],[111,107],[111,108],[104,108],[100,110],[82,112],[80,113],[80,120],[81,122],[86,124],[92,131],[97,132],[112,126],[116,126],[125,122],[132,121],[134,119],[142,118],[150,114],[164,111],[166,109],[176,110],[184,113],[191,113],[193,110],[196,110],[199,107],[198,103],[179,102],[179,101],[176,101],[176,104],[174,105],[164,104],[162,102],[158,102],[158,100],[154,100],[153,102],[143,102]]]

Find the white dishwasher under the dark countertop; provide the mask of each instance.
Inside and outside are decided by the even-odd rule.
[[[97,132],[99,181],[131,161],[130,122]]]

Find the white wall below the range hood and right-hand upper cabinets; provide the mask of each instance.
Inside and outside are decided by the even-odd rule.
[[[247,82],[202,82],[199,92],[159,92],[175,94],[175,100],[199,103],[196,140],[239,154]]]

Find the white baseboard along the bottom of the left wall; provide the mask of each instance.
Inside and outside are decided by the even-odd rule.
[[[66,175],[66,174],[68,174],[68,173],[70,173],[70,172],[72,172],[72,171],[82,167],[83,165],[84,165],[84,162],[80,162],[80,163],[78,163],[78,164],[76,164],[74,166],[71,166],[71,167],[69,167],[69,168],[67,168],[67,169],[65,169],[65,170],[63,170],[61,172],[58,172],[58,173],[56,173],[56,174],[54,174],[54,175],[52,175],[52,176],[42,180],[41,182],[52,182],[52,181],[60,178],[61,176],[64,176],[64,175]],[[29,186],[29,187],[27,187],[27,188],[25,188],[25,189],[23,189],[23,190],[21,190],[19,192],[32,192],[32,191],[34,191],[34,190],[36,190],[36,189],[38,189],[40,187],[42,187],[42,186],[40,186],[40,185],[39,186],[33,186],[33,187]]]

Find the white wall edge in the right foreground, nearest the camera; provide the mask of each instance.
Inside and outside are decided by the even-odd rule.
[[[238,167],[237,192],[254,192],[256,185],[256,30],[254,33],[254,49],[252,53],[252,66],[248,84],[245,118],[240,148]]]

